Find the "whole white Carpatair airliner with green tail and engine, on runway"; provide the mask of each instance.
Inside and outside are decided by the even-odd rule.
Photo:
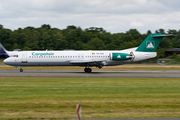
[[[156,57],[156,48],[163,37],[172,35],[150,34],[138,47],[125,50],[89,50],[89,51],[7,51],[0,44],[0,56],[9,56],[4,60],[7,65],[23,66],[84,66],[84,72],[92,72],[90,67],[122,65]]]

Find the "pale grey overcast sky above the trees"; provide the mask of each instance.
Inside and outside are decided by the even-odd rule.
[[[179,30],[180,0],[0,0],[0,24],[12,30],[42,24],[102,27],[111,33]]]

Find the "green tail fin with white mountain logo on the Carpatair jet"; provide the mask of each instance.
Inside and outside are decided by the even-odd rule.
[[[137,52],[155,52],[157,47],[159,46],[163,37],[168,37],[172,35],[165,34],[150,34],[136,49]]]

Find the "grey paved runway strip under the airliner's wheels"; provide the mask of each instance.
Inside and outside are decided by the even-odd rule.
[[[1,77],[151,77],[180,78],[180,71],[60,71],[60,70],[0,70]]]

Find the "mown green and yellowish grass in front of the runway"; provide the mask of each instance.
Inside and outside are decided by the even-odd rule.
[[[0,119],[180,118],[180,78],[0,77]]]

